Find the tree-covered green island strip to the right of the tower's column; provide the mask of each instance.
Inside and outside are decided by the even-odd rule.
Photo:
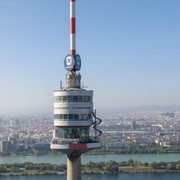
[[[117,163],[116,161],[109,162],[89,162],[83,166],[83,173],[136,173],[136,172],[180,172],[180,161],[178,162],[153,162],[142,163],[130,159]]]

